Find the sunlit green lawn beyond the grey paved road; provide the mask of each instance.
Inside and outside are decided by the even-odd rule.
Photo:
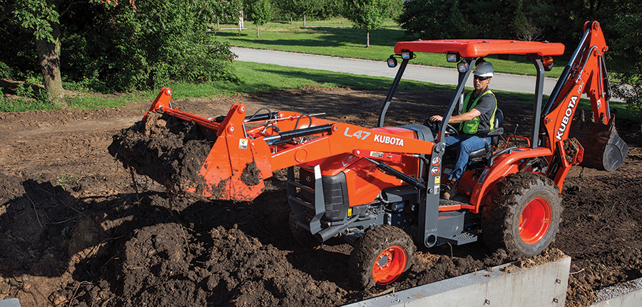
[[[230,25],[231,26],[231,25]],[[245,24],[246,28],[223,28],[215,31],[219,41],[225,41],[232,46],[290,51],[300,53],[313,53],[325,56],[341,56],[345,58],[363,58],[374,61],[385,61],[392,54],[394,44],[399,41],[409,40],[404,36],[402,28],[387,21],[381,28],[370,31],[370,47],[366,48],[366,32],[359,31],[350,26],[345,20],[308,22],[307,27],[302,22],[290,24],[268,23],[259,27],[259,36],[252,24]],[[568,47],[567,47],[568,48]],[[496,56],[489,57],[499,73],[512,73],[516,75],[533,75],[533,64],[525,56],[513,56],[509,60],[499,60]],[[566,61],[557,57],[557,65],[546,76],[559,77]],[[429,66],[454,67],[454,63],[447,63],[444,54],[417,53],[414,64]]]

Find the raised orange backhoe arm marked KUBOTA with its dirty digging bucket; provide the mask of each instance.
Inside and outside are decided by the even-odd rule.
[[[628,152],[628,145],[618,136],[609,112],[610,84],[604,64],[604,53],[608,51],[608,46],[601,26],[597,21],[587,21],[584,31],[579,46],[564,68],[544,109],[543,121],[547,134],[544,146],[563,157],[565,150],[561,146],[579,147],[576,142],[571,144],[567,141],[569,137],[574,137],[581,147],[586,148],[584,157],[564,157],[574,160],[571,165],[549,170],[549,177],[556,178],[556,184],[560,187],[565,176],[559,174],[568,172],[572,165],[582,162],[588,167],[612,171],[622,164]],[[585,121],[581,118],[573,123],[582,94],[591,100],[593,119]],[[571,152],[581,152],[581,148],[576,149]]]

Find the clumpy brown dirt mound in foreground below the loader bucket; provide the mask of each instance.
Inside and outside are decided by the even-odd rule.
[[[334,305],[342,293],[238,228],[216,227],[205,246],[178,224],[145,227],[126,242],[116,306]]]

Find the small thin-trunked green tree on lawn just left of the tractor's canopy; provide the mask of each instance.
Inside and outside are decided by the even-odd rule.
[[[366,31],[366,47],[370,47],[370,31],[385,19],[396,18],[401,8],[401,0],[345,0],[343,12],[355,28]]]

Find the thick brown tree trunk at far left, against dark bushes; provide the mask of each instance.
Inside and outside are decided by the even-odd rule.
[[[51,24],[54,42],[36,39],[36,53],[44,79],[44,87],[54,105],[67,107],[60,74],[60,26]]]

